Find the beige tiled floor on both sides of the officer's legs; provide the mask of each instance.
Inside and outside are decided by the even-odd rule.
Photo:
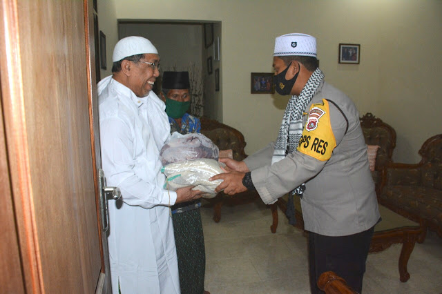
[[[271,212],[257,200],[222,207],[213,222],[213,208],[201,208],[206,244],[205,288],[218,293],[310,293],[307,238],[279,213],[276,234],[270,232]],[[401,246],[368,255],[363,293],[442,293],[442,238],[429,233],[416,244],[408,271],[399,280]]]

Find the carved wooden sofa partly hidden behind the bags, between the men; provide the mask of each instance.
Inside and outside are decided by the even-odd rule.
[[[247,154],[244,152],[244,147],[246,142],[244,136],[236,128],[222,124],[219,121],[209,119],[207,117],[202,117],[201,119],[201,133],[211,139],[220,150],[233,150],[233,159],[241,161]],[[211,205],[214,206],[213,210],[213,220],[215,222],[220,222],[221,219],[221,208],[223,205],[233,206],[238,204],[246,204],[252,202],[256,197],[259,197],[256,191],[246,191],[231,197],[224,194],[223,192],[218,193],[213,199],[207,199]],[[271,224],[271,231],[276,232],[278,226],[278,206],[276,204],[271,204],[271,213],[273,217],[273,222]]]

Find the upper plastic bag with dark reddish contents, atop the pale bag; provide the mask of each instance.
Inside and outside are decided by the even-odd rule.
[[[174,132],[171,139],[161,148],[160,159],[163,166],[175,162],[197,158],[211,158],[218,160],[220,150],[208,137],[198,134]]]

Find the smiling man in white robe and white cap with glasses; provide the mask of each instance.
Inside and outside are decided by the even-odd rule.
[[[98,84],[102,166],[108,186],[113,293],[180,293],[170,206],[201,197],[193,187],[164,190],[160,149],[169,138],[165,105],[152,91],[160,56],[143,37],[121,39],[113,75]]]

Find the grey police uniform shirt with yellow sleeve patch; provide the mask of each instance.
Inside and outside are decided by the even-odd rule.
[[[303,116],[298,152],[270,165],[273,150],[272,142],[244,159],[263,202],[271,204],[305,183],[307,231],[343,236],[376,224],[380,215],[367,146],[358,110],[343,92],[321,82]]]

